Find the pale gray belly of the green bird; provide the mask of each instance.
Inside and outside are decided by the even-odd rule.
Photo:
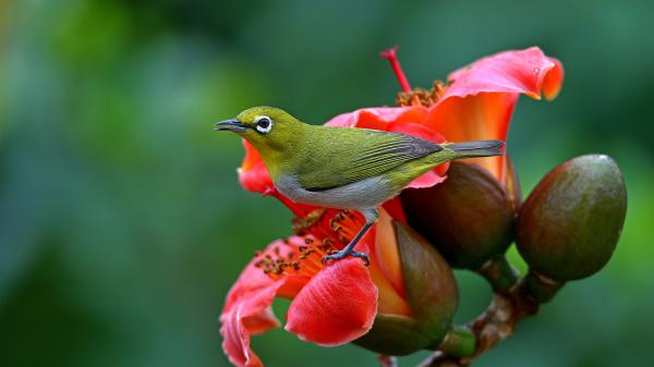
[[[354,210],[376,208],[398,194],[386,179],[379,176],[320,192],[311,192],[301,187],[294,176],[280,175],[275,181],[275,186],[283,196],[295,203]]]

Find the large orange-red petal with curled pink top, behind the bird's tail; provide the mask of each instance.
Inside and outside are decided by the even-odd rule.
[[[483,58],[449,76],[451,85],[427,118],[427,124],[450,142],[507,140],[509,122],[520,94],[554,97],[562,83],[560,63],[537,47]],[[504,182],[505,158],[480,158]]]

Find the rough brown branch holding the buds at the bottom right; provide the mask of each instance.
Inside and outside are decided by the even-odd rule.
[[[538,304],[530,296],[526,283],[520,281],[504,294],[496,293],[488,308],[468,327],[474,333],[476,345],[471,356],[455,357],[444,351],[436,351],[423,360],[419,367],[464,367],[509,338],[516,331],[518,322],[524,317],[535,315]]]

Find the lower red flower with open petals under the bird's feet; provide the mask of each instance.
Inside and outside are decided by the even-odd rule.
[[[293,299],[286,329],[324,346],[362,337],[377,314],[411,316],[386,210],[356,247],[370,250],[370,267],[356,258],[322,262],[330,249],[349,243],[364,222],[360,213],[313,209],[295,221],[301,236],[276,241],[255,256],[229,292],[220,316],[222,347],[230,362],[262,366],[250,348],[250,335],[279,325],[270,308],[276,296]]]

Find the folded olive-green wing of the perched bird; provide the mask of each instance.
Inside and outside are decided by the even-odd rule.
[[[365,129],[323,127],[317,137],[322,146],[305,150],[308,154],[296,172],[300,185],[314,192],[370,179],[443,150],[419,137]],[[318,151],[328,159],[313,159]],[[317,161],[327,164],[314,163]]]

